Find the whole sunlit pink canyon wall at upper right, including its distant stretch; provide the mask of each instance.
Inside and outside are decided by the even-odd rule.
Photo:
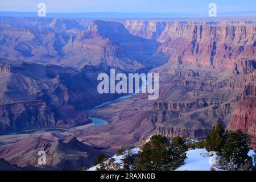
[[[255,59],[256,27],[248,22],[130,20],[124,24],[132,34],[162,43],[158,53],[176,64],[232,68],[235,60]]]

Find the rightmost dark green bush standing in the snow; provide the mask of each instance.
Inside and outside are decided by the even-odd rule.
[[[222,150],[222,157],[234,164],[245,164],[251,160],[248,156],[250,151],[250,135],[245,134],[242,130],[229,131],[225,146]]]

